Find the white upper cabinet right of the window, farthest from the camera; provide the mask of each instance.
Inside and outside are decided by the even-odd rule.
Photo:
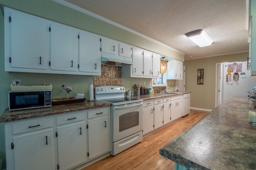
[[[182,80],[183,79],[183,62],[171,60],[167,63],[167,80]]]

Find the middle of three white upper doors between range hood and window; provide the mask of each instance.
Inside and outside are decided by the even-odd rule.
[[[143,76],[152,77],[152,53],[143,51]]]

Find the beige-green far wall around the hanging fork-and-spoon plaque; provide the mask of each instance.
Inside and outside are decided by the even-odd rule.
[[[215,108],[216,63],[247,60],[249,52],[186,60],[186,91],[190,91],[190,106],[202,109]],[[204,84],[197,84],[197,69],[204,69]]]

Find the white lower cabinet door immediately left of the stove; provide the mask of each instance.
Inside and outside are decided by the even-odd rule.
[[[109,116],[88,120],[89,159],[110,151]]]

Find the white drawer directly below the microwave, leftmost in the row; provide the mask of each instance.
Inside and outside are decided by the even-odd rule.
[[[13,127],[13,135],[24,133],[24,132],[30,132],[35,131],[39,129],[44,129],[47,127],[52,127],[52,118],[47,119],[38,119],[38,120],[26,120],[22,123],[14,123],[12,125]]]

